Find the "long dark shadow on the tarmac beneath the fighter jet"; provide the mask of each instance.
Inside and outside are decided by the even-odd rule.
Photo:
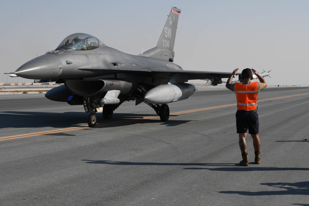
[[[26,112],[26,111],[1,111],[0,128],[67,128],[87,126],[88,113],[86,112]],[[191,120],[168,120],[161,122],[158,118],[143,119],[142,117],[152,116],[151,114],[128,114],[114,113],[111,120],[104,120],[102,113],[97,112],[97,126],[118,127],[123,125],[145,124],[160,122],[166,126],[176,126],[189,123]],[[153,115],[156,116],[156,115]],[[177,115],[171,115],[177,116]],[[108,123],[108,124],[106,124]],[[96,128],[96,127],[94,127]]]

